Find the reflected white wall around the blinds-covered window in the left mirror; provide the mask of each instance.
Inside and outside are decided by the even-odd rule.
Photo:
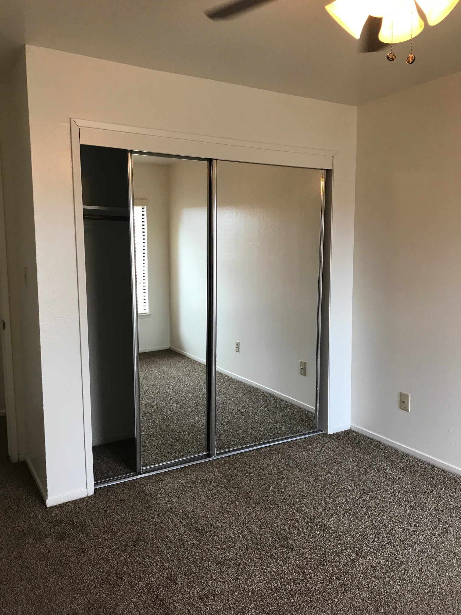
[[[138,317],[140,352],[170,346],[169,167],[133,161],[135,199],[148,202],[149,314]]]

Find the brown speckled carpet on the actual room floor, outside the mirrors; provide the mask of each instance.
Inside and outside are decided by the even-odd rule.
[[[0,418],[0,613],[461,613],[461,478],[353,432],[45,509]]]

